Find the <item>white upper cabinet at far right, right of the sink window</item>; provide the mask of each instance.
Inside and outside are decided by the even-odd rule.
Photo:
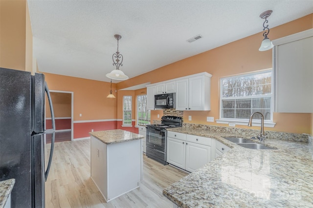
[[[275,111],[313,113],[313,29],[272,42]]]

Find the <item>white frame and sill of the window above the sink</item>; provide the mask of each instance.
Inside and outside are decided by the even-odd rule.
[[[235,79],[235,78],[238,78],[238,77],[253,76],[253,75],[263,74],[263,73],[268,73],[268,72],[271,72],[271,93],[270,94],[223,98],[223,80],[225,80],[225,79]],[[274,76],[273,76],[272,68],[268,68],[268,69],[264,69],[264,70],[260,70],[260,71],[255,71],[255,72],[249,72],[249,73],[240,74],[240,75],[222,77],[222,78],[220,78],[219,86],[220,86],[220,99],[219,99],[219,102],[220,102],[220,104],[219,104],[219,107],[220,107],[220,109],[219,109],[220,110],[220,112],[219,112],[220,119],[216,120],[217,124],[228,124],[229,126],[248,125],[249,119],[222,118],[223,101],[225,101],[225,100],[235,100],[235,104],[236,104],[236,100],[241,100],[241,99],[243,99],[243,100],[246,99],[246,100],[251,100],[252,101],[252,99],[270,98],[270,109],[269,109],[270,120],[264,120],[264,126],[266,126],[266,127],[274,127],[276,125],[276,123],[273,123],[273,112],[274,112]],[[236,107],[234,109],[236,109]],[[247,109],[252,109],[253,110],[253,108],[247,108]],[[252,124],[254,126],[261,126],[261,119],[253,119]]]

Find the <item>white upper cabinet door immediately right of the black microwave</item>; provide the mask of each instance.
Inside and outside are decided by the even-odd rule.
[[[188,110],[188,79],[176,81],[176,110]]]

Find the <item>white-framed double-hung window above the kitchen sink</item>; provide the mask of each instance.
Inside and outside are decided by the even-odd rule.
[[[265,122],[274,124],[271,122],[272,70],[222,78],[220,98],[220,120],[217,123],[246,125],[251,113],[259,111]],[[261,116],[255,114],[253,119],[260,120]]]

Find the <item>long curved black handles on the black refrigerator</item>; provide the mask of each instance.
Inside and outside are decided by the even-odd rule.
[[[45,131],[45,133],[52,133],[50,156],[49,156],[47,169],[45,170],[45,181],[47,181],[49,170],[50,170],[50,166],[51,166],[51,162],[52,162],[53,150],[54,150],[55,120],[54,120],[54,111],[53,111],[53,106],[52,106],[52,100],[51,100],[49,88],[48,88],[48,85],[47,85],[46,82],[45,82],[45,92],[47,93],[47,97],[48,97],[48,101],[49,101],[49,105],[50,105],[52,129],[53,129],[53,131]]]

